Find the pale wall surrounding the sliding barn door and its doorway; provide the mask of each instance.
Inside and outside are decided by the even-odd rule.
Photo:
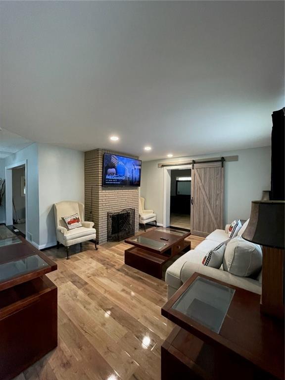
[[[271,147],[232,150],[192,157],[143,161],[141,196],[145,208],[153,209],[157,222],[163,223],[163,168],[158,163],[206,157],[238,155],[238,161],[225,163],[225,223],[248,219],[251,201],[261,199],[262,190],[270,190]]]

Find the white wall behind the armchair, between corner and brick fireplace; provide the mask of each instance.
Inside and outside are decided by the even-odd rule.
[[[84,202],[84,152],[49,144],[39,149],[40,249],[56,244],[53,203]]]

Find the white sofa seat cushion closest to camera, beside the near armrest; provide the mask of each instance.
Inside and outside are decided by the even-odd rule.
[[[184,255],[179,257],[171,266],[166,270],[165,281],[168,285],[171,285],[178,289],[182,285],[180,280],[180,273],[183,265],[190,261],[192,263],[201,264],[204,257],[204,252],[195,248],[186,252]]]

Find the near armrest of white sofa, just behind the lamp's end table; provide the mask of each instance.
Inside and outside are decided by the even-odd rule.
[[[261,294],[261,284],[257,280],[248,277],[235,276],[222,269],[210,268],[202,264],[191,263],[190,261],[187,261],[182,267],[180,274],[182,282],[185,283],[195,272],[230,285],[241,287],[242,289],[252,291],[253,293]]]

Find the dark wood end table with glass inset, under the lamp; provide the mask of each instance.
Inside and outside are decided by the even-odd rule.
[[[195,273],[162,307],[176,323],[161,347],[162,380],[284,379],[284,326],[260,296]]]

